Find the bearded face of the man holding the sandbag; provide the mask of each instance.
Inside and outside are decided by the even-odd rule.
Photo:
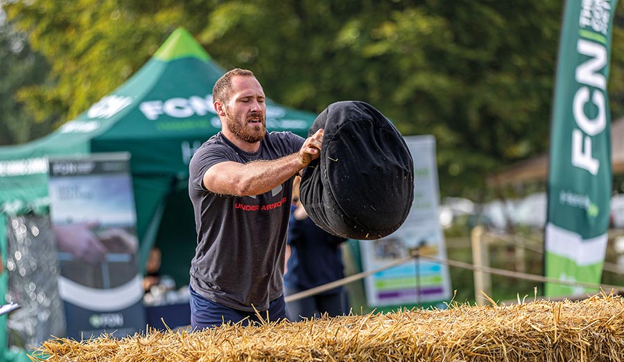
[[[241,141],[254,143],[266,134],[264,91],[254,77],[237,75],[232,78],[232,96],[225,103],[225,121],[229,130]]]

